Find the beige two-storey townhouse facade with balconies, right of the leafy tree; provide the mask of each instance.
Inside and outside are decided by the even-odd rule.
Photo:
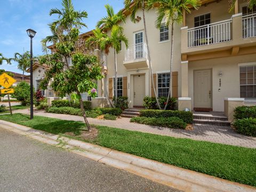
[[[225,98],[256,100],[256,10],[239,0],[233,13],[229,3],[201,1],[199,10],[174,26],[172,97],[185,100],[190,109],[224,111]],[[128,15],[126,10],[123,12]],[[142,106],[146,95],[154,97],[147,60],[142,12],[133,23],[126,17],[122,45],[117,55],[118,96],[129,98],[129,107]],[[157,97],[167,96],[170,82],[171,27],[155,28],[155,10],[146,12],[149,48]],[[108,88],[114,94],[114,51],[107,57]]]

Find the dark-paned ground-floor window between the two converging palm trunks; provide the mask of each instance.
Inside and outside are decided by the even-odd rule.
[[[158,97],[167,97],[170,86],[170,73],[157,74]]]

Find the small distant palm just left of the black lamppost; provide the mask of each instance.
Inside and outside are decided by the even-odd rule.
[[[22,70],[22,81],[24,81],[24,72],[30,66],[30,53],[26,51],[23,54],[14,53],[14,61],[18,62],[18,69]]]

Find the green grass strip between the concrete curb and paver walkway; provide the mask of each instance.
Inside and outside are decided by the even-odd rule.
[[[28,121],[29,116],[21,114],[2,115],[0,119],[55,134],[74,132],[76,139],[81,139],[78,129],[85,126],[42,116]],[[256,149],[96,127],[98,138],[90,142],[97,145],[256,187]]]

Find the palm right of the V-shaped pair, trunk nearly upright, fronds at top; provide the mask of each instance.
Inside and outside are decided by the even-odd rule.
[[[154,6],[157,3],[156,12],[157,19],[155,25],[157,28],[161,28],[161,25],[164,21],[166,26],[171,26],[171,35],[172,35],[172,46],[171,46],[171,60],[170,60],[170,83],[169,83],[169,92],[164,106],[164,110],[167,107],[172,87],[172,62],[173,62],[173,30],[175,23],[181,23],[183,18],[183,10],[187,13],[191,13],[191,8],[198,9],[201,6],[199,0],[151,0],[149,1],[148,6]]]

